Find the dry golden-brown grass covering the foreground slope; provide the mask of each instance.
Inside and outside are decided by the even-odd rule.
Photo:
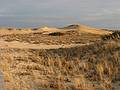
[[[75,48],[1,49],[6,90],[112,90],[120,81],[120,42]]]

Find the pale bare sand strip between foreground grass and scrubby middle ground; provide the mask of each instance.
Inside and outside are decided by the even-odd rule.
[[[59,49],[83,46],[86,44],[70,44],[70,45],[45,45],[45,44],[29,44],[18,41],[6,42],[0,40],[0,48],[18,48],[18,49]]]

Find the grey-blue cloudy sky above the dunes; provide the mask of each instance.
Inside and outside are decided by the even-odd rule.
[[[120,27],[120,0],[0,0],[0,26]]]

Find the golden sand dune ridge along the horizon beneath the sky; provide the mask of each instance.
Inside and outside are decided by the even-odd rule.
[[[78,31],[79,33],[91,33],[91,34],[111,34],[111,31],[106,31],[102,29],[92,28],[86,25],[70,25],[64,28],[51,28],[51,27],[43,27],[43,28],[36,28],[36,30],[32,28],[0,28],[0,35],[5,34],[25,34],[25,33],[33,33],[33,32],[43,32],[43,34],[49,34],[52,32],[66,32],[66,31]]]

